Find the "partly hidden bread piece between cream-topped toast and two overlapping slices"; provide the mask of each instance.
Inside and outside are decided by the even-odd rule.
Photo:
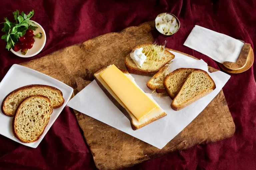
[[[157,93],[164,93],[164,79],[168,74],[169,64],[165,64],[147,83],[150,90],[156,90]]]

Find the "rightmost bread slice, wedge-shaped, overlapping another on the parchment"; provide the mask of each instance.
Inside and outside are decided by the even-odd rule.
[[[181,110],[198,99],[211,93],[216,88],[209,74],[200,69],[193,71],[182,85],[179,93],[173,99],[171,108]]]

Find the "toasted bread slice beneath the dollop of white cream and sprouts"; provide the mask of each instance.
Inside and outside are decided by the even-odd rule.
[[[151,49],[150,47],[152,45],[154,45],[154,44],[138,45],[132,51],[134,51],[136,48],[141,48],[141,47],[144,50],[150,51],[150,49]],[[143,50],[142,50],[142,52],[143,52]],[[134,63],[134,61],[130,57],[130,54],[128,54],[125,58],[124,64],[129,73],[143,75],[143,76],[153,76],[160,70],[160,68],[162,68],[165,64],[167,64],[169,61],[174,59],[174,54],[172,54],[171,52],[169,52],[166,49],[163,50],[163,53],[160,53],[160,54],[161,54],[161,57],[160,57],[161,59],[159,59],[159,60],[157,59],[157,61],[152,60],[151,58],[147,57],[145,62],[142,64],[142,66],[140,68]],[[145,53],[145,55],[146,55],[146,53]]]

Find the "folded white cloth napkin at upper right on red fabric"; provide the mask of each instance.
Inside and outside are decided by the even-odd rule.
[[[196,25],[184,45],[223,63],[224,61],[236,62],[244,43]]]

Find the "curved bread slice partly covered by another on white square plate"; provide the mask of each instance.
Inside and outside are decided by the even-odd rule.
[[[6,116],[14,116],[19,104],[29,96],[46,96],[52,103],[53,108],[61,107],[64,103],[62,92],[52,86],[33,84],[20,87],[9,93],[2,102],[2,112]]]

